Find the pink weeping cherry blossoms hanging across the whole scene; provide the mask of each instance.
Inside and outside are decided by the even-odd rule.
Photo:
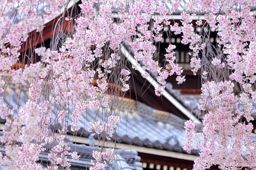
[[[182,34],[182,43],[189,44],[191,49],[192,72],[196,75],[201,71],[202,75],[199,108],[204,113],[204,127],[199,133],[192,121],[185,124],[188,142],[184,149],[200,149],[194,169],[204,170],[218,164],[221,169],[235,170],[243,163],[253,168],[256,147],[251,140],[250,121],[252,103],[256,102],[254,0],[190,0],[185,4],[182,0],[82,0],[81,13],[74,16],[67,9],[71,3],[75,5],[71,0],[1,0],[1,92],[5,78],[10,77],[18,87],[29,84],[30,99],[21,109],[0,106],[0,117],[6,119],[7,126],[0,138],[5,147],[5,155],[0,153],[0,165],[10,169],[42,169],[36,164],[38,155],[54,141],[49,169],[68,169],[69,155],[79,159],[76,152],[68,151],[65,143],[67,117],[72,120],[72,130],[79,130],[79,120],[87,107],[111,108],[117,97],[129,90],[131,70],[126,67],[123,46],[130,46],[134,54],[133,68],[142,66],[147,71],[142,77],[157,72],[156,95],[164,93],[168,76],[177,75],[178,84],[184,82],[174,45],[170,43],[166,49],[163,67],[154,57],[158,52],[155,44],[167,27],[167,32]],[[174,20],[173,13],[180,5],[184,6],[181,19]],[[31,43],[29,33],[36,30],[42,35],[44,23],[57,15],[60,17],[54,26],[51,47],[46,49],[42,44],[35,50],[31,47],[29,55],[21,54],[23,45]],[[64,22],[68,22],[69,31],[63,28]],[[203,29],[195,32],[194,27]],[[212,29],[218,31],[217,46],[209,40]],[[39,62],[35,61],[34,53],[40,56]],[[27,65],[12,69],[17,62]],[[107,92],[112,95],[105,95]],[[54,105],[60,106],[56,115],[51,111]],[[72,114],[67,111],[69,108]],[[54,116],[62,126],[58,133],[49,132]],[[92,122],[90,131],[109,140],[121,121],[117,116],[108,115],[106,120]],[[113,154],[111,150],[95,151],[93,157],[96,162],[92,161],[92,169],[103,169],[97,160],[110,160]]]

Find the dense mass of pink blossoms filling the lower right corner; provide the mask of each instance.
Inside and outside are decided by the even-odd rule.
[[[240,104],[242,107],[239,107]],[[207,169],[213,164],[220,165],[221,169],[237,168],[242,163],[251,165],[251,160],[247,161],[244,155],[250,157],[249,155],[256,151],[255,143],[251,139],[252,124],[241,121],[242,117],[248,122],[252,120],[253,110],[248,94],[241,93],[238,100],[234,95],[234,84],[231,81],[207,82],[202,86],[199,108],[207,111],[204,115],[202,133],[195,132],[195,125],[191,121],[185,124],[184,149],[188,152],[191,149],[201,150],[194,169]]]

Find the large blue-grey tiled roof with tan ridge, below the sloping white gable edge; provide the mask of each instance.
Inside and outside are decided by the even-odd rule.
[[[11,108],[19,108],[25,106],[27,101],[26,92],[22,91],[18,97],[18,89],[7,88],[4,94],[4,101]],[[20,98],[19,102],[18,99]],[[54,110],[58,110],[59,106],[54,105]],[[72,109],[69,110],[70,113]],[[105,117],[110,114],[109,108],[87,108],[83,113],[83,119],[80,121],[80,130],[75,132],[77,136],[88,137],[89,122],[95,119],[105,120]],[[157,148],[175,152],[184,152],[185,130],[184,119],[160,110],[155,110],[141,102],[132,99],[122,99],[119,105],[114,105],[112,109],[113,115],[119,115],[123,121],[117,127],[117,141],[124,144],[144,146],[148,148]],[[54,120],[54,119],[52,119]],[[56,122],[53,122],[56,124]],[[71,120],[69,121],[69,125]],[[70,126],[68,127],[69,132]],[[197,154],[197,152],[194,152]]]

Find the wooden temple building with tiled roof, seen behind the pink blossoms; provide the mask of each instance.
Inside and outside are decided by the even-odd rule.
[[[81,1],[76,1],[76,5],[79,3]],[[79,8],[74,11],[74,16],[80,12]],[[30,46],[36,48],[41,46],[42,42],[44,42],[46,47],[51,46],[50,43],[54,34],[52,28],[56,22],[57,20],[55,19],[45,23],[42,34],[36,31],[29,33],[29,39],[21,49],[23,59],[26,59],[27,55],[34,55]],[[67,28],[65,31],[73,31],[70,24],[68,21],[63,22],[62,26]],[[109,143],[107,146],[128,150],[130,156],[127,156],[129,154],[121,155],[126,159],[126,163],[130,163],[129,168],[133,170],[140,170],[141,167],[144,170],[191,170],[193,168],[193,161],[198,157],[198,151],[193,150],[192,154],[187,154],[182,149],[185,135],[184,122],[190,117],[194,117],[194,115],[191,115],[191,109],[196,108],[197,98],[193,97],[193,95],[200,95],[201,80],[200,75],[194,76],[190,71],[190,56],[187,54],[189,47],[182,45],[181,39],[181,35],[174,35],[172,32],[171,37],[164,34],[157,57],[160,64],[163,64],[165,61],[165,49],[168,44],[171,42],[176,45],[177,62],[185,68],[186,82],[182,85],[177,85],[175,76],[169,77],[167,82],[171,83],[172,88],[166,90],[166,95],[157,97],[152,82],[145,81],[141,77],[141,73],[136,71],[136,74],[133,75],[133,80],[130,82],[131,89],[128,96],[131,99],[122,99],[122,105],[118,108],[121,110],[123,122],[117,128],[118,133],[115,135],[116,143]],[[216,43],[216,32],[212,34],[211,41]],[[124,49],[128,48],[128,46],[124,47]],[[35,55],[34,61],[39,60],[40,57]],[[26,64],[26,60],[17,63],[15,67],[22,67],[24,64]],[[154,79],[154,77],[152,78]],[[26,102],[27,92],[23,91],[22,93],[25,96],[22,100]],[[17,89],[9,88],[2,95],[5,97],[6,102],[13,102],[9,104],[12,106],[22,103],[15,102],[19,98],[18,94]],[[186,95],[186,97],[182,97],[182,95]],[[187,95],[191,95],[192,98],[187,97]],[[106,108],[99,109],[105,110],[105,113],[108,112]],[[88,132],[88,125],[90,121],[94,121],[96,114],[97,110],[88,108],[87,115],[85,116],[86,119],[81,121],[80,130],[68,135],[70,142],[78,146],[81,155],[86,155],[88,152],[88,149],[83,149],[83,146],[84,144],[88,145],[88,136],[90,134]],[[1,123],[3,126],[4,120]],[[198,124],[200,126],[200,119]],[[136,151],[137,155],[133,154],[133,151]],[[87,160],[88,157],[84,157],[83,163],[85,163],[85,159]],[[139,162],[142,163],[141,166]],[[78,169],[86,169],[86,165],[83,166],[83,163],[76,165],[76,167]],[[217,170],[218,168],[214,166],[211,169]]]

